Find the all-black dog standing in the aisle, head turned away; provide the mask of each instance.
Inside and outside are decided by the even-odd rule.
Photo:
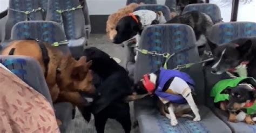
[[[98,133],[104,132],[107,119],[115,119],[126,133],[131,131],[129,103],[124,98],[132,93],[133,82],[126,70],[104,51],[95,47],[84,50],[87,61],[93,61],[93,70],[102,80],[97,87],[100,96],[91,105]]]

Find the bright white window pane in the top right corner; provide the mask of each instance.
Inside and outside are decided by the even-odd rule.
[[[237,21],[256,22],[256,1],[240,0],[238,6]]]

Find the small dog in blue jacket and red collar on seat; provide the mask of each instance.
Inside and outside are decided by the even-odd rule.
[[[171,119],[171,125],[177,125],[176,115],[190,116],[192,110],[194,121],[200,121],[199,110],[192,97],[195,83],[187,73],[178,70],[160,68],[156,72],[143,76],[134,86],[133,100],[155,94],[161,101],[160,112]],[[191,117],[191,116],[190,116]]]

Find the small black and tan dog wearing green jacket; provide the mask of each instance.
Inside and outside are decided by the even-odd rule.
[[[256,82],[251,77],[238,77],[220,80],[211,91],[214,102],[219,103],[220,109],[227,110],[228,121],[245,121],[255,124],[252,116],[256,114]]]

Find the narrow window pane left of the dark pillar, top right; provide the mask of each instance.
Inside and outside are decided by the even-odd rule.
[[[221,11],[221,17],[224,22],[231,20],[232,0],[210,0],[209,3],[217,4]]]

